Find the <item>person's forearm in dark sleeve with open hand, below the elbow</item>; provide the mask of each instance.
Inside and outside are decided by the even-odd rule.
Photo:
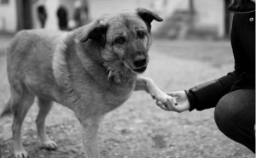
[[[230,72],[227,76],[223,76],[218,80],[206,82],[196,87],[190,88],[188,91],[169,92],[168,95],[176,98],[177,105],[173,104],[172,100],[161,103],[157,101],[156,104],[162,110],[183,112],[185,110],[205,110],[215,107],[218,100],[224,94],[230,92],[230,88],[239,78],[236,71]]]

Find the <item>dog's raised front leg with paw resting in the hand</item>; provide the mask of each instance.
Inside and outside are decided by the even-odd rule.
[[[137,82],[134,90],[144,90],[147,93],[150,93],[153,99],[156,99],[163,104],[166,104],[167,98],[172,99],[171,96],[163,93],[160,88],[155,85],[154,81],[148,77],[137,76]]]

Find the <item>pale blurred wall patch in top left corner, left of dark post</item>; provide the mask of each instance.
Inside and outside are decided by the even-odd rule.
[[[0,4],[0,31],[14,32],[17,29],[17,14],[15,0]]]

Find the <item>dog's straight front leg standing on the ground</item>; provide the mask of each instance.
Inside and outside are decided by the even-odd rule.
[[[87,158],[100,158],[97,136],[102,117],[81,118],[79,120],[82,126],[84,149]]]

